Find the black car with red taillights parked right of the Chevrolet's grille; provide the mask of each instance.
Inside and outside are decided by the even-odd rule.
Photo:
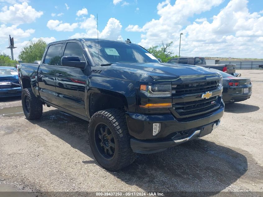
[[[234,103],[245,101],[251,97],[252,84],[250,79],[244,77],[233,77],[228,73],[210,68],[223,76],[223,101]]]

